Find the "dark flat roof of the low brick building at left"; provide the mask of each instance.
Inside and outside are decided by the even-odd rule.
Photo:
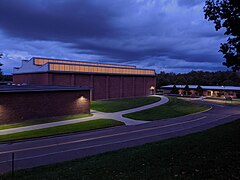
[[[34,85],[9,85],[0,86],[0,93],[10,92],[46,92],[46,91],[86,91],[90,87],[78,86],[34,86]]]

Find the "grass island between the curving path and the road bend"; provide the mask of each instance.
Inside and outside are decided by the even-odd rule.
[[[125,114],[124,117],[136,120],[159,120],[184,116],[195,112],[203,111],[209,107],[206,105],[196,104],[189,101],[177,99],[176,97],[168,97],[169,102],[164,105],[151,109],[138,111],[135,113]]]

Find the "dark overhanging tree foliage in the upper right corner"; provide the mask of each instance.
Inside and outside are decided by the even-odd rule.
[[[226,62],[223,65],[233,71],[240,70],[240,3],[239,0],[206,0],[205,19],[213,21],[215,29],[225,29],[226,43],[221,43],[219,52]]]

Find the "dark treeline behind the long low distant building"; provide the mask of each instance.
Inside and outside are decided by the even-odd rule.
[[[232,71],[191,71],[189,73],[157,74],[157,88],[166,85],[205,85],[205,86],[240,86],[240,73]]]

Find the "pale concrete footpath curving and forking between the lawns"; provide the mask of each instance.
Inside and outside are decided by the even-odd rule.
[[[149,109],[149,108],[152,108],[155,106],[160,106],[169,101],[169,99],[165,96],[158,96],[158,97],[161,98],[160,101],[153,103],[153,104],[146,105],[146,106],[141,106],[138,108],[128,109],[128,110],[119,111],[119,112],[115,112],[115,113],[104,113],[104,112],[92,111],[91,113],[93,114],[93,116],[91,116],[91,117],[5,129],[5,130],[0,130],[0,135],[13,134],[13,133],[17,133],[17,132],[37,130],[37,129],[44,129],[44,128],[62,126],[62,125],[67,125],[67,124],[74,124],[74,123],[79,123],[79,122],[95,120],[95,119],[114,119],[117,121],[121,121],[121,122],[125,123],[126,125],[144,124],[144,123],[148,123],[149,121],[132,120],[129,118],[122,117],[122,115]]]

